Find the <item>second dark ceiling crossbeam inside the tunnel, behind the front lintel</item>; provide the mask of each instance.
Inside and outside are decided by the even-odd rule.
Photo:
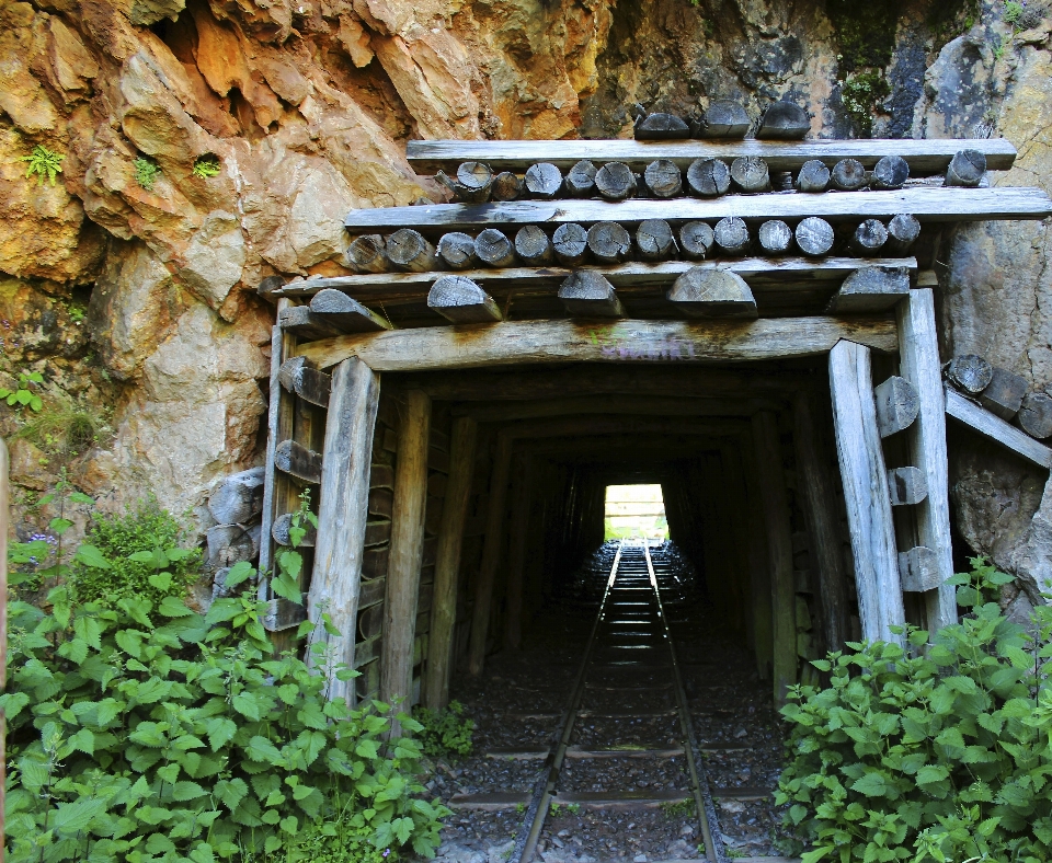
[[[506,423],[515,419],[539,419],[546,416],[578,414],[629,414],[636,416],[752,416],[756,411],[777,411],[782,405],[775,399],[648,399],[638,395],[593,395],[570,399],[546,399],[496,404],[461,404],[454,416],[470,416],[480,423]]]

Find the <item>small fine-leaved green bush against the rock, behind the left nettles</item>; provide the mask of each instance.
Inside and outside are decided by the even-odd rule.
[[[185,533],[156,498],[128,506],[123,516],[96,516],[87,542],[99,555],[73,561],[70,592],[80,602],[113,607],[126,597],[142,597],[159,606],[164,597],[181,597],[198,575],[201,552],[183,549]]]

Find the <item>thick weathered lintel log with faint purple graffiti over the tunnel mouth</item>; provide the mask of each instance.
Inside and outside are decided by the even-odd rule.
[[[888,318],[762,318],[756,321],[527,321],[354,334],[297,348],[318,368],[358,357],[374,371],[466,369],[507,364],[720,363],[817,356],[842,338],[897,348]]]

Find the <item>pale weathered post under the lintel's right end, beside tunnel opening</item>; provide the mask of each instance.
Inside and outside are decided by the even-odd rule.
[[[830,389],[862,637],[901,641],[890,629],[905,623],[905,611],[868,347],[837,343],[830,352]]]

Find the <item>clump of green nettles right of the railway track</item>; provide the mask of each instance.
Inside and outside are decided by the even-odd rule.
[[[804,863],[1052,860],[1052,608],[1027,632],[990,599],[1011,577],[972,565],[970,612],[927,649],[910,628],[906,648],[850,643],[814,663],[827,689],[791,691],[776,801]]]

